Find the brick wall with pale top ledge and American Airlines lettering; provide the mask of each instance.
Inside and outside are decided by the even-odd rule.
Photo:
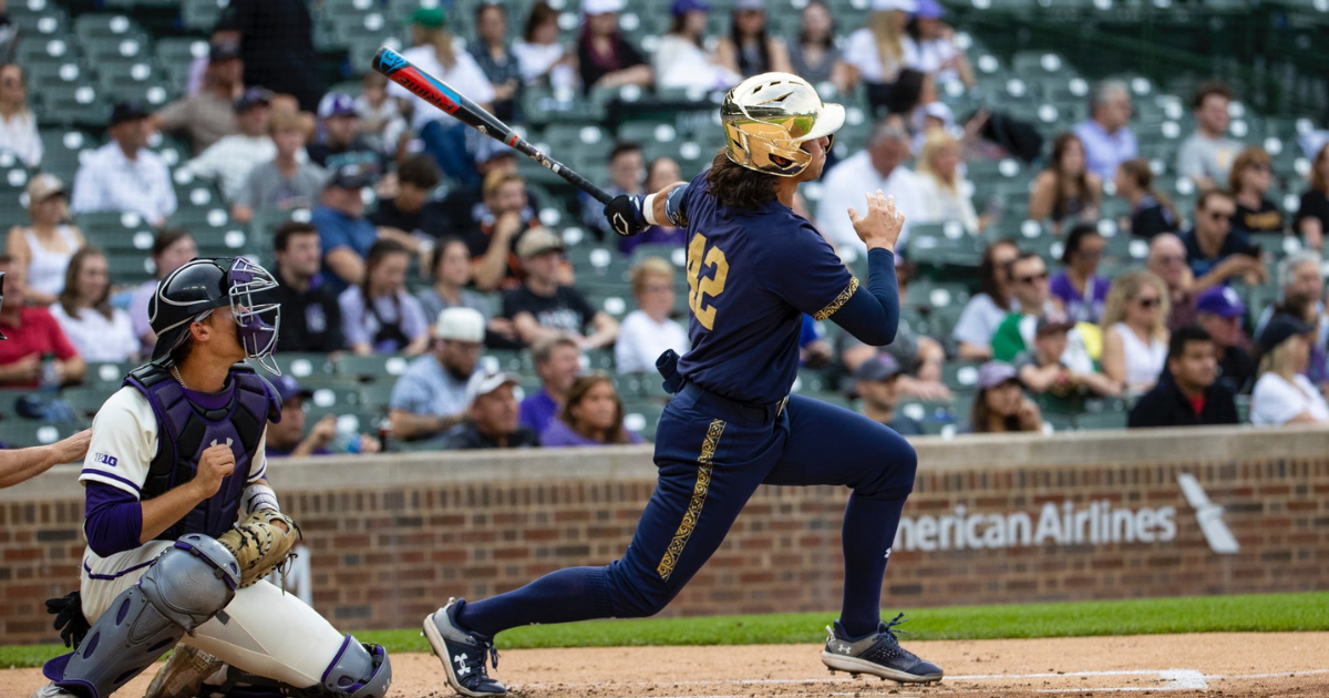
[[[1038,523],[1045,504],[1071,501],[1171,507],[1175,538],[926,553],[897,541],[882,606],[1329,589],[1329,432],[1172,433],[918,441],[922,465],[905,509],[914,533],[920,517],[957,507]],[[654,488],[649,453],[327,459],[274,463],[272,477],[311,548],[315,608],[347,630],[411,628],[449,596],[485,597],[621,554]],[[1209,550],[1179,473],[1225,508],[1237,554]],[[372,488],[360,487],[367,475]],[[56,640],[43,601],[76,586],[84,552],[73,477],[61,468],[0,493],[7,643]],[[664,614],[833,612],[845,500],[841,488],[762,488]]]

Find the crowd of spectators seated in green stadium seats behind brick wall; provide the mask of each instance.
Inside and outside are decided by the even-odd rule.
[[[0,257],[9,273],[0,384],[58,388],[80,383],[86,362],[150,354],[155,281],[118,285],[102,241],[73,222],[117,213],[154,227],[152,269],[162,279],[198,254],[197,231],[171,226],[181,203],[175,177],[214,182],[237,223],[278,221],[266,231],[263,262],[279,282],[280,352],[409,360],[384,419],[395,440],[437,448],[639,443],[625,427],[622,380],[585,370],[585,355],[609,352],[619,379],[650,382],[661,352],[687,350],[680,267],[659,251],[682,247],[683,231],[653,226],[610,243],[602,206],[577,202],[587,234],[633,263],[630,279],[621,279],[631,311],[610,312],[578,287],[587,270],[569,261],[575,241],[542,221],[549,202],[518,173],[510,148],[477,140],[372,72],[358,96],[292,81],[292,70],[272,70],[270,58],[288,55],[296,65],[314,56],[304,3],[231,5],[183,98],[155,112],[117,104],[105,145],[82,158],[72,187],[52,174],[31,177],[27,221],[9,230]],[[839,379],[841,399],[870,419],[925,433],[933,417],[900,408],[924,402],[953,407],[946,419],[961,433],[1041,432],[1055,415],[1094,403],[1134,406],[1131,427],[1231,424],[1245,403],[1259,425],[1329,423],[1320,257],[1329,146],[1310,161],[1300,210],[1285,215],[1273,198],[1271,154],[1228,136],[1235,97],[1227,86],[1205,82],[1195,93],[1195,132],[1172,166],[1196,193],[1193,207],[1181,210],[1155,186],[1158,162],[1140,157],[1131,86],[1094,84],[1087,118],[1051,138],[1030,182],[1026,218],[1057,238],[1051,254],[994,233],[990,211],[974,205],[979,125],[957,124],[938,98],[941,89],[971,88],[974,72],[936,0],[872,0],[863,27],[836,27],[827,5],[812,0],[789,36],[780,36],[763,0],[735,0],[719,24],[704,0],[674,0],[668,31],[649,52],[621,31],[622,0],[582,0],[579,9],[578,28],[566,32],[545,3],[526,17],[484,3],[474,35],[456,36],[453,9],[420,8],[404,55],[517,124],[525,120],[522,90],[536,85],[664,94],[793,70],[841,94],[861,89],[873,120],[865,144],[839,153],[819,195],[800,198],[796,213],[816,221],[852,265],[860,242],[845,211],[864,191],[894,195],[908,217],[897,250],[906,308],[926,306],[910,296],[916,230],[952,225],[983,241],[975,292],[944,324],[920,330],[906,320],[897,340],[878,348],[825,335],[828,326],[807,319],[805,364]],[[708,33],[718,25],[728,31]],[[25,86],[20,65],[0,66],[0,150],[40,170]],[[169,166],[149,148],[157,130],[186,140],[189,156]],[[647,161],[638,142],[601,152],[613,194],[695,174],[668,157]],[[1100,219],[1115,203],[1124,214]],[[308,214],[290,219],[294,211]],[[1108,269],[1115,234],[1143,241],[1147,257]],[[1273,278],[1263,235],[1296,238],[1305,251],[1277,265],[1278,296],[1255,307],[1239,291]],[[642,245],[655,251],[642,255]],[[500,350],[528,351],[532,375],[485,360]],[[957,367],[977,376],[965,395],[944,378]],[[306,425],[312,394],[290,376],[276,387],[302,419],[274,425],[272,453],[384,445],[347,433],[336,419]]]

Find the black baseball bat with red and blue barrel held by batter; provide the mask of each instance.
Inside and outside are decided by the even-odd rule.
[[[590,194],[601,203],[609,203],[611,197],[603,189],[577,174],[571,168],[544,154],[522,137],[513,133],[512,126],[504,124],[498,117],[484,110],[478,104],[468,100],[451,85],[421,70],[396,51],[383,47],[373,55],[373,69],[387,76],[388,80],[411,90],[412,94],[437,106],[445,114],[478,130],[480,133],[506,144],[513,150],[540,162],[550,172],[562,177],[569,183]]]

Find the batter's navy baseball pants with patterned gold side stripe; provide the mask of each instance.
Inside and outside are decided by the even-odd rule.
[[[468,602],[459,621],[493,637],[529,624],[653,616],[720,546],[758,485],[848,485],[840,622],[853,637],[876,630],[888,550],[913,489],[913,447],[863,415],[797,395],[769,423],[726,420],[706,402],[680,392],[664,408],[659,483],[621,560]]]

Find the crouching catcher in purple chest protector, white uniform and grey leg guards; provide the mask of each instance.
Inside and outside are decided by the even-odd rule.
[[[243,258],[194,259],[158,285],[153,359],[97,412],[80,475],[80,596],[93,624],[72,654],[47,663],[51,683],[36,698],[106,698],[177,641],[167,667],[197,681],[171,687],[181,695],[203,679],[223,691],[241,679],[292,695],[385,694],[383,647],[343,637],[260,578],[299,533],[264,479],[266,424],[280,419],[280,402],[237,366],[253,358],[275,372],[280,308],[254,300],[274,286]]]

